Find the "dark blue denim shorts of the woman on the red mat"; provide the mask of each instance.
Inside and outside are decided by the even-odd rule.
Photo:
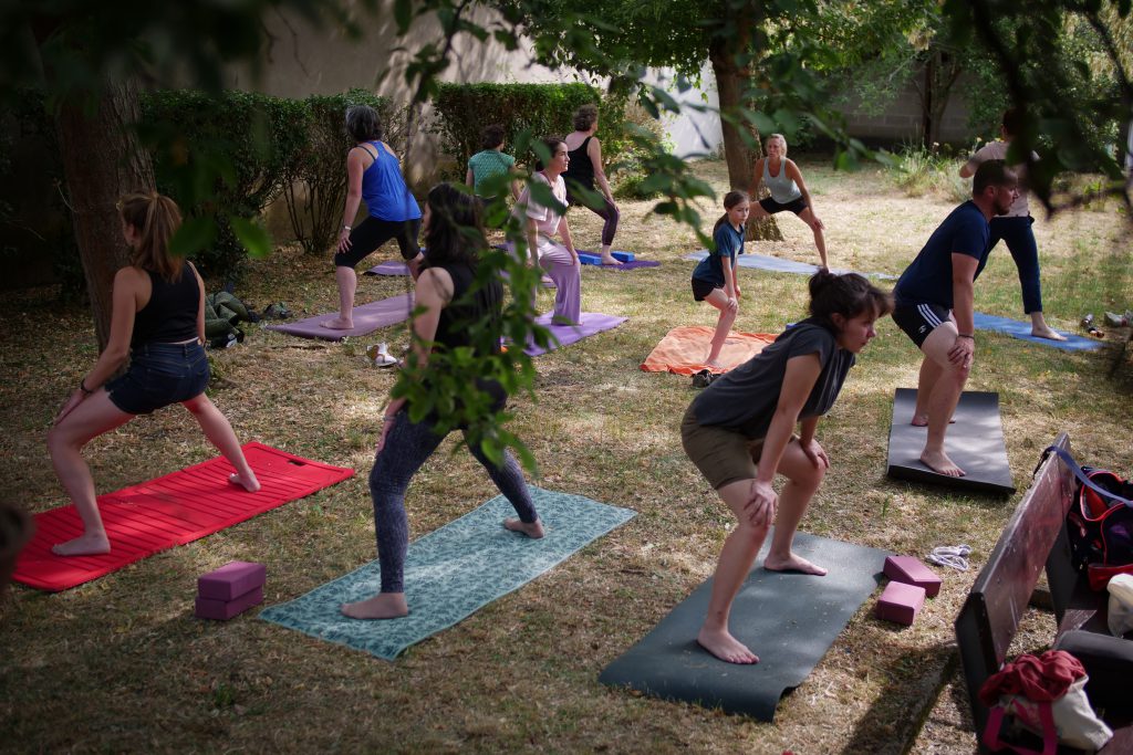
[[[207,385],[208,357],[199,343],[147,343],[130,352],[130,369],[107,392],[123,412],[148,414],[199,396]]]

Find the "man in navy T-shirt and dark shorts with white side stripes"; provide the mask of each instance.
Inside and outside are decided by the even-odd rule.
[[[972,198],[932,232],[893,290],[893,321],[925,353],[912,420],[928,427],[920,460],[948,477],[964,474],[944,452],[944,436],[976,359],[973,288],[990,252],[988,222],[1017,197],[1019,179],[1002,160],[980,164]]]

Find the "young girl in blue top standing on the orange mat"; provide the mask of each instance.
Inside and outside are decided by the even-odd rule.
[[[716,333],[713,334],[708,359],[705,360],[705,367],[710,370],[723,367],[719,363],[719,352],[740,312],[735,257],[743,254],[743,224],[748,222],[750,209],[751,203],[743,191],[729,191],[724,195],[725,212],[713,229],[716,248],[709,249],[708,256],[692,271],[692,298],[707,301],[719,310]]]

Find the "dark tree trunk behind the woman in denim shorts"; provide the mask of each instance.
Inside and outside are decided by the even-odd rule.
[[[107,83],[91,104],[96,108],[84,108],[82,100],[68,102],[57,126],[75,241],[101,351],[110,337],[114,273],[129,264],[114,205],[126,192],[152,191],[154,179],[150,154],[133,128],[139,117],[137,83]]]

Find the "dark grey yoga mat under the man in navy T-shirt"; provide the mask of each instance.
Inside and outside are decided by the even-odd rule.
[[[897,388],[893,398],[893,427],[889,430],[889,467],[887,474],[898,480],[943,484],[956,490],[1011,495],[1007,448],[999,421],[999,394],[965,391],[944,437],[944,451],[964,470],[964,477],[937,474],[920,461],[928,430],[913,427],[914,388]]]

